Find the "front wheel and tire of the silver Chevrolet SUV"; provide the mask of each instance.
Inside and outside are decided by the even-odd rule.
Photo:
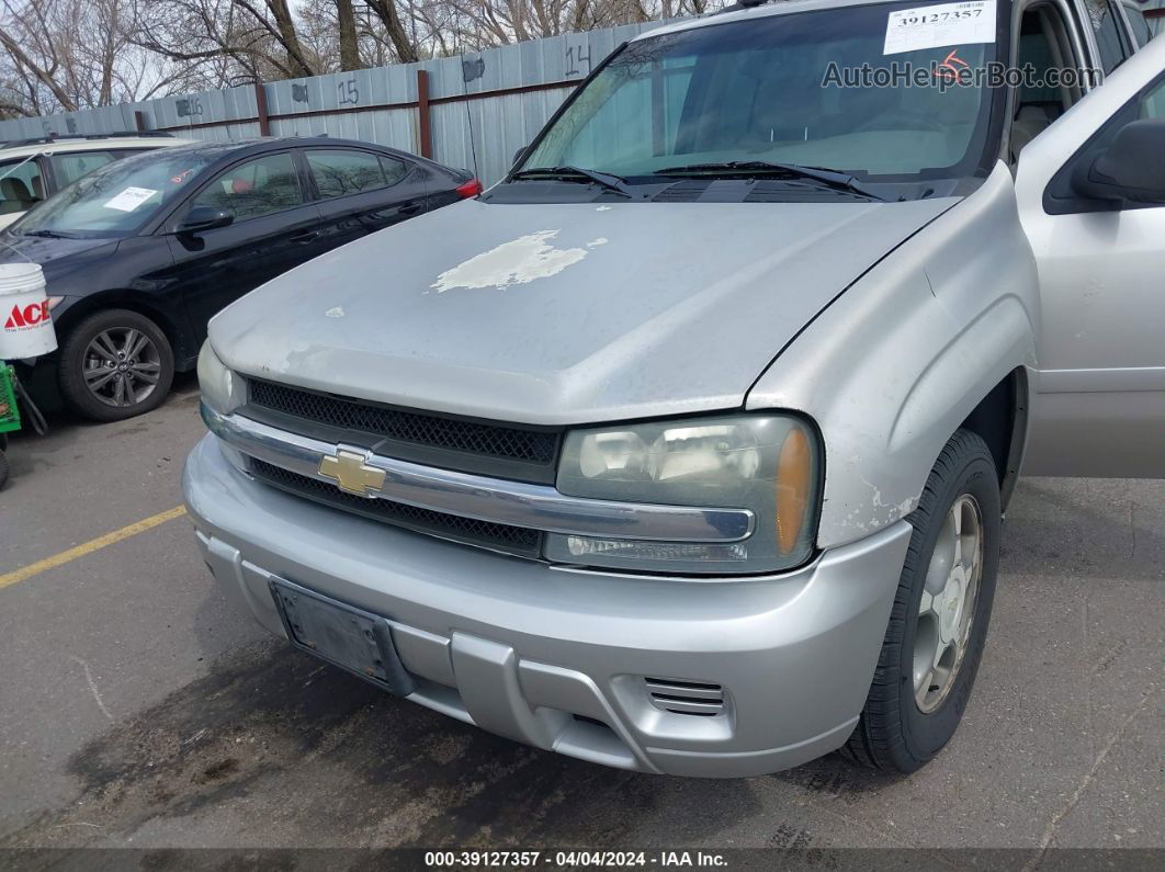
[[[998,481],[991,453],[977,434],[960,430],[951,437],[918,508],[908,517],[915,532],[874,681],[857,725],[841,749],[853,763],[883,772],[915,772],[942,750],[959,726],[995,598],[1002,526]],[[975,538],[972,522],[977,522],[979,548],[969,545]],[[954,534],[959,530],[961,534]],[[959,574],[953,534],[965,563],[975,562],[972,552],[977,552],[977,568],[972,566],[969,573],[963,566]],[[969,590],[973,596],[967,596]],[[960,638],[963,643],[955,644]],[[949,654],[945,646],[961,655]],[[937,657],[940,652],[945,661]]]

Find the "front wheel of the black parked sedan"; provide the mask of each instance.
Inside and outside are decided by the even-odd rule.
[[[90,420],[125,420],[156,409],[172,382],[174,350],[165,333],[128,309],[91,314],[61,346],[61,397]]]

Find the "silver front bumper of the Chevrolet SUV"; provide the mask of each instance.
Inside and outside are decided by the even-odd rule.
[[[422,706],[677,775],[775,772],[846,740],[910,541],[899,522],[781,575],[647,577],[493,554],[317,505],[239,472],[213,435],[191,453],[183,487],[214,576],[273,633],[284,634],[274,576],[389,618],[416,679],[408,699]],[[661,685],[720,703],[652,697]]]

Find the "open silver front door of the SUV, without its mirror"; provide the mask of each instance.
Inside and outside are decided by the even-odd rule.
[[[1043,309],[1025,474],[1165,477],[1165,200],[1090,199],[1072,180],[1139,119],[1165,120],[1165,40],[1019,156]]]

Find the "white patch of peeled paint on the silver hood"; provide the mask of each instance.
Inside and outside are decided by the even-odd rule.
[[[600,236],[588,242],[586,248],[555,248],[548,240],[558,234],[559,231],[538,231],[503,242],[445,270],[430,288],[436,288],[438,293],[454,288],[495,288],[502,291],[562,272],[586,257],[588,248],[607,243]]]

